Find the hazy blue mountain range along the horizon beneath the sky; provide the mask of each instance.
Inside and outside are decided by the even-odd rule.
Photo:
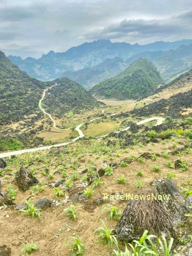
[[[74,80],[80,82],[80,84],[84,88],[90,88],[98,81],[109,78],[110,76],[116,75],[119,71],[122,71],[126,65],[128,66],[128,64],[130,64],[130,60],[128,60],[128,58],[133,55],[140,53],[143,54],[144,52],[150,51],[155,52],[154,54],[156,56],[158,55],[158,53],[156,53],[157,51],[176,50],[181,45],[189,46],[190,44],[192,44],[192,40],[186,39],[175,42],[158,41],[147,45],[112,43],[110,40],[102,39],[90,43],[86,42],[80,46],[72,47],[65,52],[54,52],[51,50],[48,52],[48,54],[43,54],[42,57],[39,59],[28,57],[23,60],[18,56],[9,56],[9,58],[22,70],[26,71],[28,75],[36,79],[48,81],[57,79],[62,76],[68,76],[68,78],[70,79],[74,77]],[[112,68],[106,67],[104,72],[102,70],[98,71],[99,64],[105,66],[105,61],[107,59],[114,59],[115,57],[119,57],[122,59],[121,64],[119,62],[119,59],[115,59],[113,61],[108,60],[107,62],[117,63],[116,74],[114,64]],[[140,57],[142,56],[139,56],[138,58]],[[125,64],[123,62],[125,62]],[[185,62],[188,62],[188,60],[186,60]],[[76,74],[71,73],[79,70],[82,71]],[[70,72],[65,73],[66,71]],[[94,73],[95,71],[100,72],[97,79],[95,78],[95,75],[92,75],[92,73]],[[86,77],[90,79],[86,80]],[[85,85],[83,84],[84,82]]]

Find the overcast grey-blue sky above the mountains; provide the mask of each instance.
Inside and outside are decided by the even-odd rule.
[[[96,39],[192,39],[192,0],[0,0],[6,55],[38,58]]]

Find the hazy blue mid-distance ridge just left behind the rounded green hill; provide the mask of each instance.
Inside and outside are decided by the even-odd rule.
[[[80,83],[85,89],[91,89],[96,83],[117,75],[127,66],[127,63],[121,58],[114,57],[113,59],[106,59],[94,67],[86,67],[78,71],[66,71],[64,77]]]

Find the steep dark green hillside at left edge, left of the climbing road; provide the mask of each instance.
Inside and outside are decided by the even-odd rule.
[[[44,87],[45,83],[29,77],[0,51],[0,125],[37,111]]]

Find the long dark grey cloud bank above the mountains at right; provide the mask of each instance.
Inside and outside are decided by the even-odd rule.
[[[170,36],[189,32],[188,26],[183,26],[183,23],[188,23],[188,19],[192,18],[192,13],[187,12],[179,16],[172,16],[167,19],[124,19],[117,24],[113,24],[102,29],[93,30],[84,34],[84,38],[89,40],[96,38],[116,39],[121,37],[154,37]],[[190,29],[192,24],[190,23]]]

